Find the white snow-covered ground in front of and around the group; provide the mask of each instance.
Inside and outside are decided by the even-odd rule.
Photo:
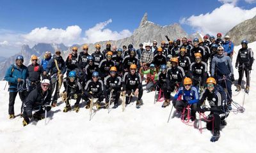
[[[236,47],[236,51],[239,47]],[[256,52],[256,42],[249,44]],[[236,54],[234,55],[233,65]],[[256,64],[253,65],[253,69]],[[235,78],[238,79],[237,69]],[[89,111],[81,108],[63,113],[64,103],[53,108],[44,120],[22,126],[22,118],[8,119],[8,92],[6,82],[0,82],[0,152],[253,152],[256,149],[255,70],[251,74],[250,96],[246,94],[244,113],[230,113],[227,126],[221,130],[218,142],[210,142],[211,131],[201,134],[193,126],[183,124],[174,117],[167,123],[172,106],[154,105],[154,92],[143,93],[144,105],[136,109],[131,103],[122,112],[101,109],[89,121]],[[232,87],[233,94],[237,94]],[[239,104],[244,91],[233,96]],[[134,98],[135,99],[135,98]],[[59,99],[61,101],[61,99]],[[15,101],[15,113],[20,113],[19,96]],[[74,101],[72,103],[74,105]],[[84,106],[82,103],[81,106]],[[197,116],[198,117],[198,116]],[[205,122],[202,122],[205,127]]]

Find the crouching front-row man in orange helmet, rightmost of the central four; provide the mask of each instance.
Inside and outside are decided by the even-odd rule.
[[[152,53],[153,54],[153,53]],[[138,96],[136,102],[136,108],[140,108],[143,105],[141,98],[143,95],[142,80],[140,73],[136,72],[137,66],[131,64],[130,71],[126,72],[123,77],[123,96],[125,97],[125,104],[129,104],[132,94]],[[133,93],[132,93],[133,92]]]

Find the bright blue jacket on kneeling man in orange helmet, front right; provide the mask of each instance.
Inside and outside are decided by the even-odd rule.
[[[177,94],[175,94],[174,99],[177,100],[180,95],[182,95],[182,99],[189,104],[197,103],[199,101],[198,90],[194,86],[191,86],[189,91],[184,89],[184,87],[180,87]]]

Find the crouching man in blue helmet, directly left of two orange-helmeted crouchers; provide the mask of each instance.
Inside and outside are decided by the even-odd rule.
[[[92,73],[92,78],[88,80],[84,87],[84,94],[82,95],[82,98],[84,101],[86,101],[85,108],[90,108],[90,101],[89,99],[92,98],[98,98],[96,101],[96,105],[100,108],[100,102],[104,99],[104,87],[103,87],[102,80],[99,79],[99,73],[97,71],[94,71]]]

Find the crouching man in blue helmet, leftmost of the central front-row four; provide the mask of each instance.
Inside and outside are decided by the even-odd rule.
[[[65,78],[63,80],[63,84],[65,87],[65,91],[63,91],[63,94],[65,95],[64,99],[66,103],[63,112],[68,112],[69,110],[71,110],[71,99],[76,99],[74,110],[76,110],[76,112],[79,112],[79,102],[81,100],[82,87],[79,79],[76,77],[76,71],[70,71],[68,73],[68,78]]]

